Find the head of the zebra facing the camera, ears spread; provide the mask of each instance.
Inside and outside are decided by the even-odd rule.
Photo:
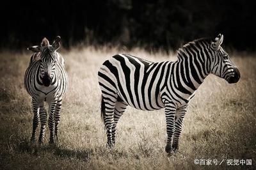
[[[47,38],[42,40],[41,45],[28,47],[28,50],[40,53],[40,79],[44,86],[50,86],[55,77],[55,65],[58,62],[56,50],[60,48],[60,36],[57,36],[52,45]]]

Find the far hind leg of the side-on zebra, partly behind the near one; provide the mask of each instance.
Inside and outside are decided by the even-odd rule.
[[[116,142],[116,124],[118,123],[118,120],[123,115],[126,107],[127,107],[127,104],[125,104],[125,102],[123,102],[123,101],[116,102],[115,111],[114,111],[114,123],[113,123],[113,127],[112,127],[113,144],[115,144],[115,142]]]

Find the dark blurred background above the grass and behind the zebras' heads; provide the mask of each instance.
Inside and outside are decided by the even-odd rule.
[[[24,50],[44,36],[63,46],[115,45],[146,50],[177,49],[205,36],[225,36],[226,47],[254,51],[253,1],[93,0],[4,1],[0,48]]]

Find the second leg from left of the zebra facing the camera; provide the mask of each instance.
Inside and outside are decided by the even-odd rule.
[[[45,127],[46,127],[46,122],[47,122],[47,114],[44,108],[44,102],[40,104],[40,121],[41,121],[41,130],[40,130],[40,135],[38,139],[38,143],[42,144],[44,143],[44,134],[45,134]]]

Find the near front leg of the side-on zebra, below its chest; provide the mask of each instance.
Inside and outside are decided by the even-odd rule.
[[[165,104],[165,116],[166,116],[166,130],[167,130],[167,144],[165,151],[168,154],[173,153],[172,137],[175,130],[175,112],[176,107],[172,103]]]

